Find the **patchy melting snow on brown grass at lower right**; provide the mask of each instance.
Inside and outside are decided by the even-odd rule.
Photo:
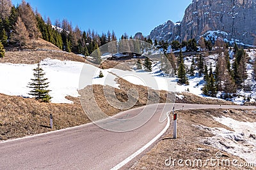
[[[240,122],[229,117],[214,117],[214,120],[230,127],[233,131],[196,125],[199,129],[215,135],[207,138],[207,143],[256,165],[256,143],[253,139],[253,135],[256,134],[256,123]]]

